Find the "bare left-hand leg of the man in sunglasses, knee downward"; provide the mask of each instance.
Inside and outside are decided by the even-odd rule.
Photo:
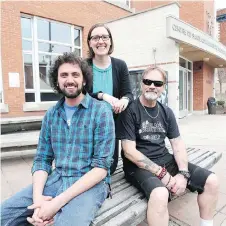
[[[168,226],[168,197],[169,192],[164,187],[155,188],[150,195],[147,209],[149,226]]]

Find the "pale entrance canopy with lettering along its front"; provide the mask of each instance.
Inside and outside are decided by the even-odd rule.
[[[167,17],[166,29],[167,37],[178,43],[181,56],[214,68],[226,67],[226,46],[212,36],[173,16]]]

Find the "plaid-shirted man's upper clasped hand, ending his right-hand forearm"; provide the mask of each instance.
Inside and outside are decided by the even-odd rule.
[[[29,206],[28,209],[39,208],[38,218],[42,219],[43,221],[50,221],[61,207],[62,206],[58,202],[57,198],[54,198],[50,201],[42,202],[41,205],[33,204]]]

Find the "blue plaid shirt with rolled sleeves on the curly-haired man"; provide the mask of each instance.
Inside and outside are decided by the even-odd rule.
[[[44,170],[50,174],[46,185],[62,179],[61,192],[94,167],[106,169],[105,181],[110,183],[115,145],[111,110],[86,94],[69,127],[63,103],[64,98],[49,109],[43,119],[32,173]],[[53,160],[56,168],[51,173]]]

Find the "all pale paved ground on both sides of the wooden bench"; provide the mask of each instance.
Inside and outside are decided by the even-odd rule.
[[[186,146],[196,146],[223,153],[212,170],[220,181],[219,202],[214,226],[226,226],[226,115],[189,116],[179,120],[181,136]],[[2,200],[31,183],[32,159],[4,160],[1,165]],[[169,204],[170,214],[190,226],[199,226],[196,194],[189,193]],[[141,225],[147,225],[145,222]]]

